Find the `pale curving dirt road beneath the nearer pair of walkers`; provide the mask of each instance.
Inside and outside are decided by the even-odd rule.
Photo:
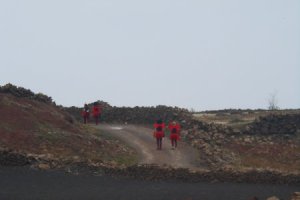
[[[156,150],[156,140],[150,128],[108,124],[102,124],[97,128],[134,148],[139,154],[139,164],[167,165],[192,170],[200,167],[197,165],[198,152],[184,142],[179,141],[177,149],[173,150],[169,138],[164,138],[162,150]]]

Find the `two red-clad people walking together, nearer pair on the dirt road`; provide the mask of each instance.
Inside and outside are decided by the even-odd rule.
[[[165,123],[159,119],[154,123],[154,137],[156,138],[157,149],[162,149],[162,139],[165,137]],[[177,141],[179,140],[180,125],[176,121],[169,123],[168,127],[170,130],[170,140],[172,149],[177,148]]]

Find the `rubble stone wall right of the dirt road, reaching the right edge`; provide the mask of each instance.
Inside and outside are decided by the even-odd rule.
[[[245,130],[235,130],[225,125],[207,124],[189,121],[182,132],[185,140],[201,152],[200,162],[209,169],[231,167],[239,162],[239,153],[230,146],[265,145],[284,143],[285,147],[294,148],[299,137],[300,114],[280,114],[260,117],[248,125]],[[255,153],[259,153],[259,149]],[[270,156],[272,154],[270,153]]]

